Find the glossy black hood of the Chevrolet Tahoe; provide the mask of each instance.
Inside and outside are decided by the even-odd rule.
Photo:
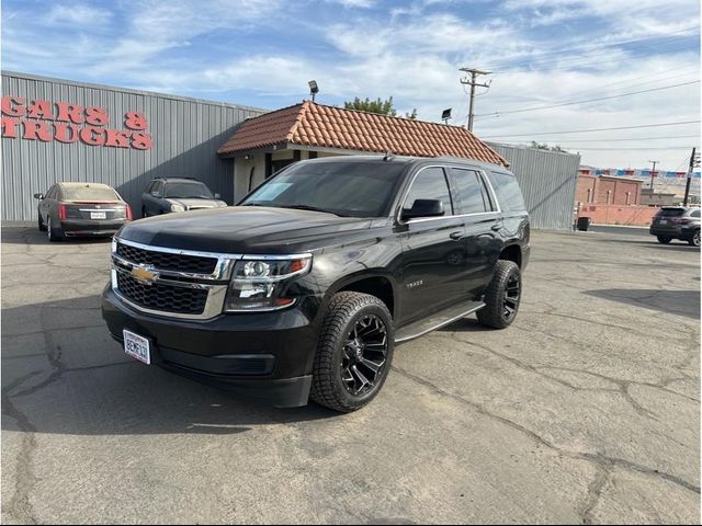
[[[367,218],[319,211],[229,206],[139,219],[125,225],[118,237],[182,250],[284,254],[337,244],[340,232],[370,225]]]

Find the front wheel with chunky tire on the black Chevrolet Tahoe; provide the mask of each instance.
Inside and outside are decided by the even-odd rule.
[[[385,384],[394,345],[393,318],[383,301],[369,294],[336,294],[319,333],[310,398],[342,413],[366,405]]]

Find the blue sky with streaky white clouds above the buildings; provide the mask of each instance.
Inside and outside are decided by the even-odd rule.
[[[469,67],[491,72],[486,140],[663,170],[701,146],[697,0],[3,0],[1,46],[5,70],[270,110],[315,79],[319,103],[393,96],[453,125]]]

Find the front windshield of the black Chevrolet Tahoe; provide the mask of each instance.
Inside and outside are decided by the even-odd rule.
[[[404,168],[399,162],[303,162],[270,179],[240,205],[381,217],[388,214]]]

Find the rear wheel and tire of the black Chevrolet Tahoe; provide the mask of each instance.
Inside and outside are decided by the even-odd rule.
[[[485,307],[477,312],[478,321],[492,329],[505,329],[517,318],[522,296],[522,278],[513,261],[499,260],[492,281],[485,289]]]

